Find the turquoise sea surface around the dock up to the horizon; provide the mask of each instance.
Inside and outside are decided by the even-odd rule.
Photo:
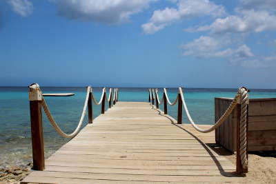
[[[86,88],[42,88],[44,93],[72,92],[75,96],[45,97],[50,112],[65,132],[75,130],[83,103],[86,98]],[[101,88],[93,88],[97,99],[101,96]],[[177,89],[168,89],[168,94],[173,101],[177,96]],[[233,97],[237,89],[184,89],[184,95],[190,114],[199,124],[214,123],[214,98]],[[162,90],[159,95],[161,98]],[[251,90],[250,98],[276,98],[276,90]],[[147,88],[119,88],[119,101],[148,101]],[[160,107],[163,108],[163,105]],[[94,118],[100,114],[100,107],[93,105]],[[177,116],[177,105],[168,106],[168,114]],[[188,123],[183,115],[184,123]],[[84,125],[88,117],[86,116]],[[83,125],[83,126],[84,126]],[[43,114],[43,134],[46,157],[50,156],[61,145],[68,142],[50,125]],[[28,88],[0,87],[0,167],[10,165],[26,165],[32,162],[32,149],[30,139],[30,110],[28,101]]]

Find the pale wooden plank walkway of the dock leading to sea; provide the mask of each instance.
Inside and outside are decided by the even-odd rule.
[[[117,102],[21,183],[239,183],[235,165],[189,125],[144,102]],[[214,132],[204,139],[214,139]]]

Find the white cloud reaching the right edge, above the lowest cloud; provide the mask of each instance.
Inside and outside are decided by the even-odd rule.
[[[187,31],[209,31],[213,34],[263,32],[276,30],[276,16],[264,10],[242,10],[240,15],[230,15],[224,19],[216,19],[210,25]]]

